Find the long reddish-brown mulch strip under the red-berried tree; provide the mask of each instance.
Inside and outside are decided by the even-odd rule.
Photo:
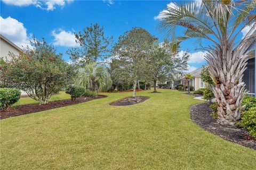
[[[107,97],[105,95],[99,95],[95,98],[92,97],[79,97],[76,100],[71,99],[63,99],[63,100],[57,100],[57,101],[50,101],[48,104],[45,105],[38,105],[38,104],[31,104],[31,105],[20,105],[12,109],[7,109],[6,111],[0,111],[0,120],[8,117],[14,117],[19,115],[25,115],[29,113],[35,113],[35,112],[41,112],[41,111],[47,111],[53,108],[59,108],[69,105],[75,105],[79,103],[83,103],[86,101],[94,100],[94,99],[100,99]]]

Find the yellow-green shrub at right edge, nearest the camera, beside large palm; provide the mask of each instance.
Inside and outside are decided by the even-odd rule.
[[[242,120],[238,123],[246,131],[249,131],[252,137],[256,138],[256,107],[251,107],[242,113]]]

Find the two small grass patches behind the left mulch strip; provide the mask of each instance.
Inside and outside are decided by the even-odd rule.
[[[62,100],[62,99],[68,99],[68,98],[70,98],[70,95],[66,94],[65,91],[60,91],[58,95],[53,95],[50,98],[50,101],[56,101],[56,100]],[[13,106],[28,105],[28,104],[39,104],[39,101],[36,101],[30,97],[22,97]]]

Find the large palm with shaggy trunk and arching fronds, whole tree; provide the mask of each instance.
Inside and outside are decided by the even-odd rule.
[[[172,5],[162,13],[161,28],[178,43],[190,38],[212,43],[204,49],[208,51],[205,59],[215,84],[213,93],[218,101],[220,124],[234,125],[241,118],[241,102],[246,94],[242,81],[247,62],[244,56],[246,48],[255,41],[255,8],[255,0],[203,0],[201,4],[189,1]],[[179,26],[184,33],[175,37]],[[249,32],[238,40],[244,28]]]

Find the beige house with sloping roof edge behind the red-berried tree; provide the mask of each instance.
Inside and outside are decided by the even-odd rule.
[[[22,49],[0,34],[0,57],[3,57],[4,60],[10,60],[9,52],[19,55]],[[27,95],[27,93],[21,90],[21,95]]]

